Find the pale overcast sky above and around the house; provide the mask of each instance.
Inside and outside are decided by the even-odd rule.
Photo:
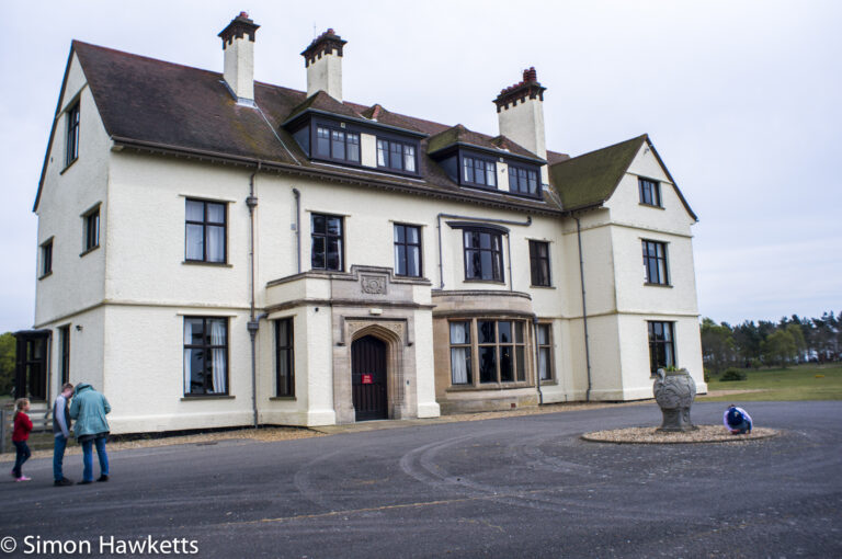
[[[299,53],[333,27],[345,99],[486,134],[535,66],[549,149],[650,135],[699,217],[702,316],[842,310],[842,2],[32,0],[0,16],[0,332],[33,322],[32,205],[70,41],[221,71],[241,10],[255,79],[305,89]]]

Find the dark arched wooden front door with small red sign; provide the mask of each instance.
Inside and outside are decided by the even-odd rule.
[[[388,419],[386,342],[366,335],[351,344],[351,379],[356,421]]]

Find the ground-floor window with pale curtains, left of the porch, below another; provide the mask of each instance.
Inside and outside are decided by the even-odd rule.
[[[184,317],[184,396],[228,395],[228,319]]]

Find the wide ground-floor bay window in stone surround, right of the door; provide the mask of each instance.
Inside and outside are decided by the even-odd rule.
[[[452,320],[448,328],[453,385],[526,381],[525,321],[477,318]],[[473,363],[477,364],[476,376]]]

